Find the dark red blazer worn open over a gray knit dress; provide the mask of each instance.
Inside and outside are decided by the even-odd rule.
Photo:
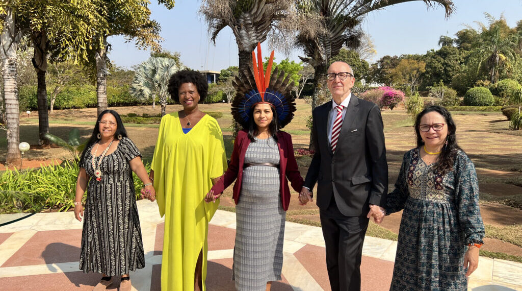
[[[280,181],[279,181],[279,193],[281,193],[281,200],[283,203],[283,209],[286,211],[290,204],[290,189],[288,188],[288,180],[292,185],[292,188],[299,192],[303,187],[303,178],[301,173],[297,169],[297,161],[293,154],[292,137],[286,132],[280,131],[277,134],[277,147],[279,148],[279,169],[280,169]],[[235,204],[239,202],[239,194],[241,193],[241,181],[243,179],[243,165],[245,163],[246,149],[250,145],[250,139],[246,131],[238,132],[238,136],[235,138],[234,150],[232,157],[230,158],[230,165],[228,170],[219,178],[218,182],[213,185],[212,190],[214,193],[221,193],[227,187],[232,184],[234,180],[237,181],[234,184],[233,198]]]

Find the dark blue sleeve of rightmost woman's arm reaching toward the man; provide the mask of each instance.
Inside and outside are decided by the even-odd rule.
[[[408,190],[408,182],[407,182],[407,172],[409,171],[411,160],[411,150],[404,154],[402,158],[402,165],[399,170],[399,177],[397,177],[397,181],[395,182],[395,190],[391,193],[388,193],[386,197],[386,215],[392,214],[394,212],[399,212],[404,209],[404,205],[406,204],[406,200],[410,195]]]

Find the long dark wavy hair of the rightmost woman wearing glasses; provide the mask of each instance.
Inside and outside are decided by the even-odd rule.
[[[449,111],[446,110],[446,108],[437,105],[425,108],[424,110],[422,110],[421,113],[417,114],[417,118],[415,120],[417,147],[421,147],[424,145],[419,130],[419,125],[421,123],[421,118],[429,112],[437,112],[438,114],[441,114],[446,120],[446,125],[448,126],[447,143],[442,148],[442,152],[438,156],[437,162],[433,167],[434,172],[441,172],[442,174],[446,174],[448,171],[453,170],[453,162],[455,161],[455,156],[457,155],[459,150],[462,150],[457,144],[457,135],[455,134],[457,127],[455,126],[455,121],[453,121],[452,114],[450,114]],[[464,152],[464,150],[462,150],[462,152]]]

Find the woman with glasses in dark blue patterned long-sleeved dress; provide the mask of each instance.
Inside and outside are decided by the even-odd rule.
[[[401,211],[390,290],[467,290],[477,269],[484,225],[473,162],[440,106],[417,115],[417,147],[404,155],[386,214]]]

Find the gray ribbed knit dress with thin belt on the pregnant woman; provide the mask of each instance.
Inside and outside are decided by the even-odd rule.
[[[257,139],[245,153],[245,164],[279,165],[274,138]],[[237,290],[264,291],[268,281],[281,280],[286,212],[279,193],[279,168],[251,166],[244,169],[236,205],[233,280]]]

